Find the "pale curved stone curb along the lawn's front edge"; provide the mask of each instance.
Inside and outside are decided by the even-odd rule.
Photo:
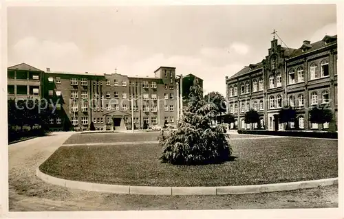
[[[109,192],[114,194],[140,194],[140,195],[226,195],[226,194],[252,194],[261,192],[280,192],[295,189],[310,189],[319,186],[338,185],[337,178],[325,178],[314,181],[299,181],[292,183],[275,183],[264,185],[234,185],[215,187],[158,187],[158,186],[131,186],[111,185],[100,183],[87,183],[70,181],[44,174],[36,168],[36,176],[47,183],[60,185],[69,189],[82,189],[93,192]]]

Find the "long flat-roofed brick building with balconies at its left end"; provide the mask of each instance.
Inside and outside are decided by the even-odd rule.
[[[8,98],[44,98],[54,112],[52,130],[125,130],[147,125],[175,126],[178,89],[175,67],[154,77],[119,73],[41,71],[22,63],[8,68]],[[25,76],[25,77],[24,77]],[[25,87],[25,89],[24,89]],[[25,90],[25,92],[24,92]]]

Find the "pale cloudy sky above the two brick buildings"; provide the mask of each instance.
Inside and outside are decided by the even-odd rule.
[[[10,7],[8,67],[153,76],[168,66],[226,95],[225,76],[263,60],[273,30],[291,48],[319,41],[336,34],[336,5]]]

